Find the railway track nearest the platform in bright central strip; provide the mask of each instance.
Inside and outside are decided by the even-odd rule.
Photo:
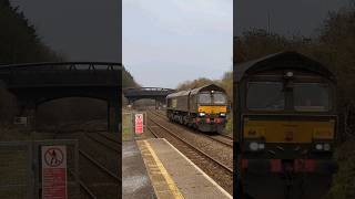
[[[166,138],[189,159],[211,176],[220,186],[233,193],[233,168],[221,163],[215,157],[190,144],[171,129],[148,117],[148,129],[158,138]]]

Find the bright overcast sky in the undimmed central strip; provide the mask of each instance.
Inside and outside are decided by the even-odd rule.
[[[143,86],[232,70],[233,0],[123,0],[123,64]]]

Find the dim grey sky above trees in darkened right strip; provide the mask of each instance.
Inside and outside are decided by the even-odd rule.
[[[315,36],[328,11],[347,6],[348,0],[235,0],[234,3],[236,35],[251,28],[266,30],[270,13],[273,32]]]

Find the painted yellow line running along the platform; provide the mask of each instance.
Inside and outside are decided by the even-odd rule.
[[[173,181],[173,179],[171,178],[171,176],[166,171],[165,167],[163,166],[163,164],[161,163],[161,160],[156,156],[152,146],[146,140],[143,140],[143,143],[144,143],[145,147],[148,148],[148,150],[150,151],[150,154],[152,155],[152,157],[159,168],[160,174],[164,177],[164,179],[169,186],[169,189],[171,190],[171,193],[174,196],[175,199],[183,199],[184,197],[182,196],[182,193],[180,192],[175,182]]]

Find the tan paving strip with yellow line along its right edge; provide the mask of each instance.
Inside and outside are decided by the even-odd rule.
[[[155,195],[159,199],[183,199],[181,191],[168,174],[155,151],[146,140],[136,140],[141,150],[149,177],[151,178]]]

